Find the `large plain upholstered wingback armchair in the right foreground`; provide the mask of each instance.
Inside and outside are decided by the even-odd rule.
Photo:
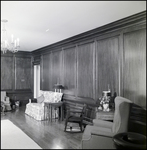
[[[128,121],[132,101],[117,96],[115,98],[113,122],[93,119],[93,126],[87,125],[81,141],[82,149],[115,149],[113,136],[128,131]]]

